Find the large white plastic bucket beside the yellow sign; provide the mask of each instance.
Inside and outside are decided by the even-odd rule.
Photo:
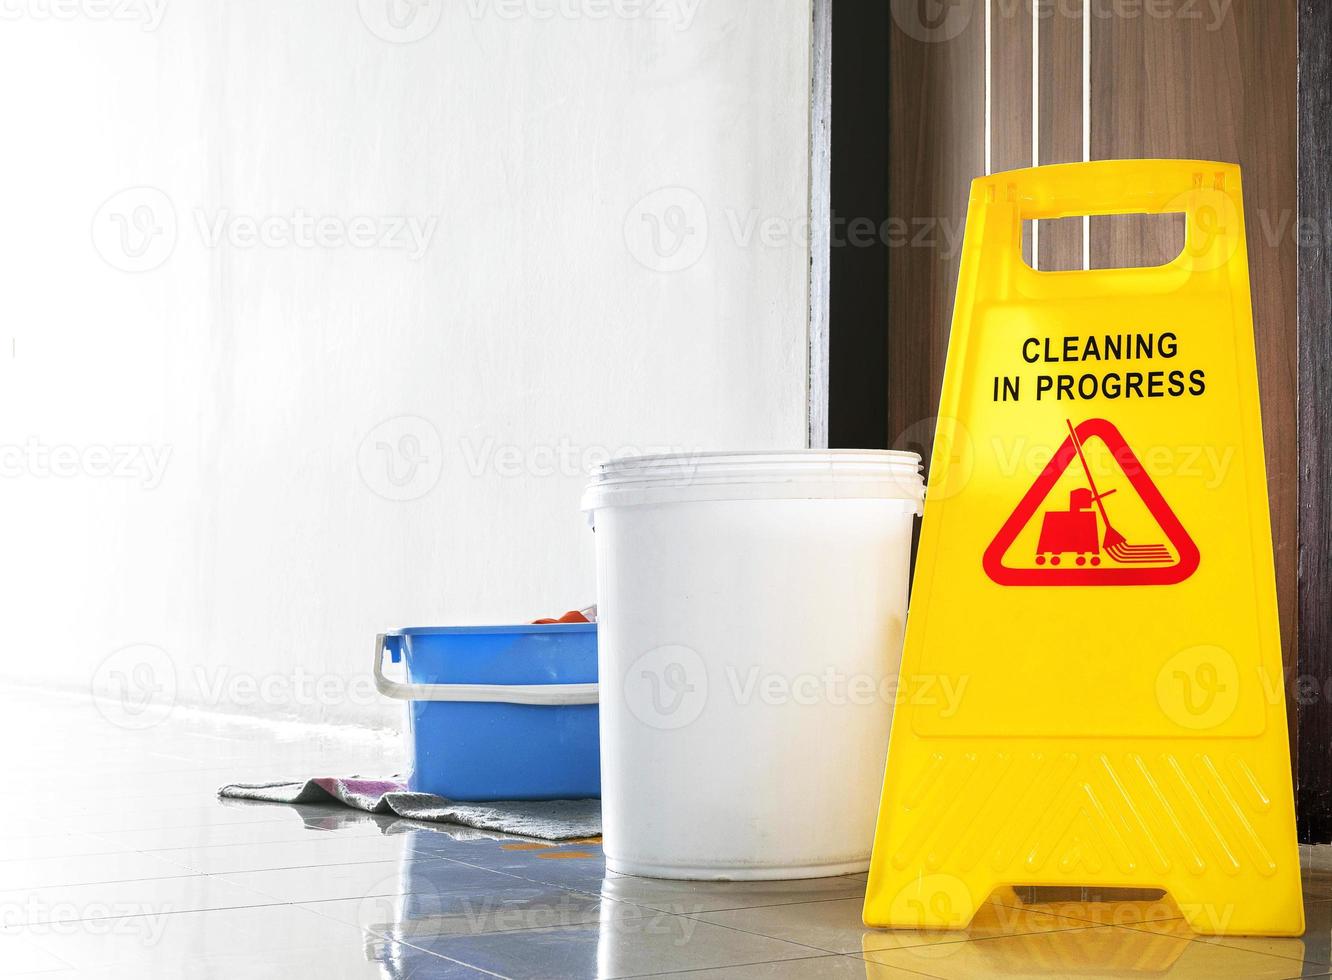
[[[914,453],[617,459],[597,537],[606,867],[864,871],[898,698]]]

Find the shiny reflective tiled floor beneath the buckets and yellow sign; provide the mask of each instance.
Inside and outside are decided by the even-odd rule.
[[[234,780],[392,771],[392,743],[188,716],[123,728],[32,691],[0,691],[0,976],[1332,975],[1332,848],[1305,852],[1301,939],[1200,939],[1168,901],[1011,891],[966,932],[883,932],[860,925],[863,875],[607,876],[595,843],[214,798]]]

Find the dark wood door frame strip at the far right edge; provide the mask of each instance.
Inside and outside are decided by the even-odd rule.
[[[1300,840],[1332,843],[1332,4],[1300,0]],[[1305,236],[1303,229],[1308,229]]]

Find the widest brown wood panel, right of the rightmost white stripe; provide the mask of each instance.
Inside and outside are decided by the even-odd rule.
[[[1185,5],[1179,5],[1180,12]],[[1195,157],[1244,170],[1276,547],[1281,643],[1296,664],[1296,8],[1235,0],[1215,28],[1193,17],[1112,17],[1092,29],[1092,157]],[[1162,222],[1092,220],[1095,265],[1177,253]],[[1173,252],[1172,252],[1173,249]]]

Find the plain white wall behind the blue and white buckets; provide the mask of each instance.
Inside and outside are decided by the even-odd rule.
[[[392,723],[593,601],[589,459],[803,445],[809,0],[163,1],[0,17],[0,674]]]

